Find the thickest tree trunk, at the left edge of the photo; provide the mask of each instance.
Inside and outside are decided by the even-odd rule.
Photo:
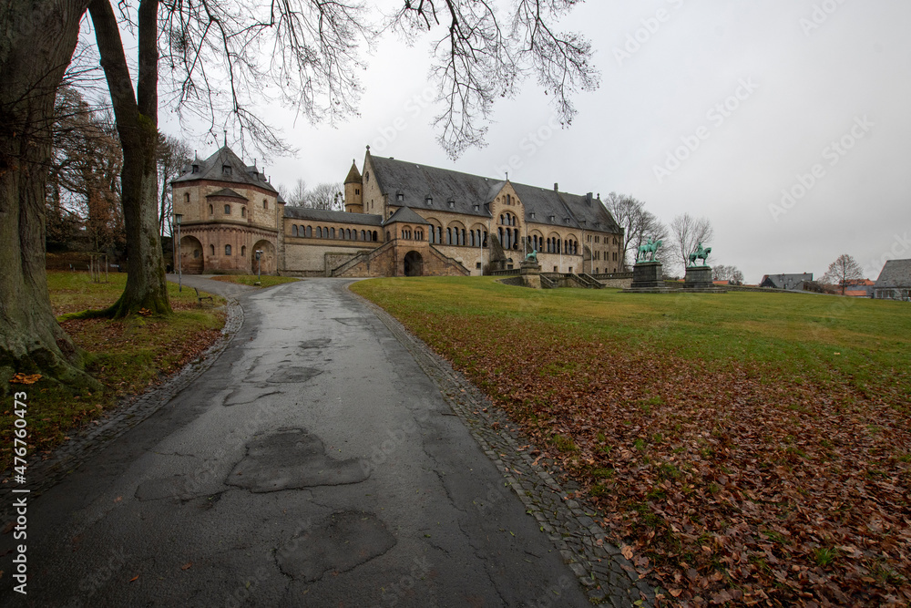
[[[0,6],[0,394],[16,372],[97,386],[57,324],[45,273],[54,100],[87,0]]]

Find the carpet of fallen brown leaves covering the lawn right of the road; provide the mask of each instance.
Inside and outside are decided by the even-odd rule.
[[[639,354],[502,316],[405,323],[547,446],[678,601],[911,602],[900,391]]]

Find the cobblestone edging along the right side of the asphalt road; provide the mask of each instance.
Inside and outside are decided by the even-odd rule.
[[[356,294],[355,294],[356,295]],[[356,296],[360,298],[360,296]],[[554,474],[558,465],[547,458],[533,459],[533,444],[519,433],[517,425],[465,376],[456,372],[427,345],[382,308],[360,298],[383,321],[393,335],[415,356],[427,376],[476,438],[486,455],[503,472],[506,485],[525,504],[527,513],[555,543],[569,568],[576,574],[592,603],[613,606],[654,605],[655,589],[608,541],[593,519],[594,509],[568,499],[571,482],[560,485]],[[524,448],[519,451],[519,448]]]

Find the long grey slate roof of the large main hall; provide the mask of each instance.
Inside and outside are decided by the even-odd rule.
[[[502,180],[428,167],[405,160],[373,155],[370,156],[370,160],[374,168],[374,175],[370,177],[377,181],[380,191],[389,196],[389,204],[406,205],[421,211],[451,211],[490,217],[485,205],[493,201],[496,194],[506,185]],[[585,196],[510,183],[525,206],[527,222],[619,232],[617,222],[614,222],[609,211],[597,199],[592,199],[589,205]],[[396,199],[395,195],[399,191],[404,195],[403,201]],[[427,196],[432,197],[433,204],[427,204]],[[448,205],[450,200],[454,202],[452,208]],[[551,216],[553,220],[550,219]]]

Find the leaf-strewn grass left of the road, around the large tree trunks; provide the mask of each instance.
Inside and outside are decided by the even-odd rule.
[[[108,283],[92,283],[88,273],[48,272],[47,282],[55,314],[101,309],[117,301],[127,275],[111,273]],[[24,386],[28,393],[28,453],[46,452],[67,440],[68,435],[103,416],[119,399],[142,392],[199,356],[220,335],[224,300],[214,296],[215,306],[200,307],[192,290],[178,292],[168,283],[174,314],[133,316],[126,320],[69,319],[61,325],[87,353],[87,372],[104,389],[94,394],[73,393],[39,380]],[[0,420],[0,469],[10,466],[13,417],[8,411]]]

